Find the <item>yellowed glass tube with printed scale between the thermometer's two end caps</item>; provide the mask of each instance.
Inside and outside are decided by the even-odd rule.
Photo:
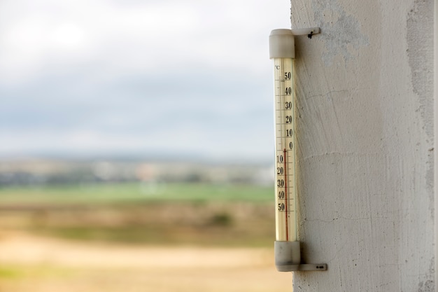
[[[276,240],[297,241],[293,59],[274,58]]]

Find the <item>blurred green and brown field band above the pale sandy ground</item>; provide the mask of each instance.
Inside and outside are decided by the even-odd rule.
[[[270,246],[272,192],[206,183],[0,188],[0,228],[114,244]]]

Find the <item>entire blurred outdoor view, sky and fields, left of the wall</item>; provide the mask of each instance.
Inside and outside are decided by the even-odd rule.
[[[0,1],[0,291],[289,289],[268,55],[289,13]]]

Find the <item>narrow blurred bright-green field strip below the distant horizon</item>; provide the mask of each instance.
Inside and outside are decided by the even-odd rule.
[[[207,183],[106,183],[0,187],[5,204],[106,204],[113,202],[270,202],[271,186]]]

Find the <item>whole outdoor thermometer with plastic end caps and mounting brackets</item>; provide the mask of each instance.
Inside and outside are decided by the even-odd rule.
[[[327,265],[301,263],[297,234],[297,167],[295,161],[294,35],[309,39],[319,28],[274,29],[269,36],[269,57],[274,60],[275,120],[275,262],[278,271],[325,270]]]

